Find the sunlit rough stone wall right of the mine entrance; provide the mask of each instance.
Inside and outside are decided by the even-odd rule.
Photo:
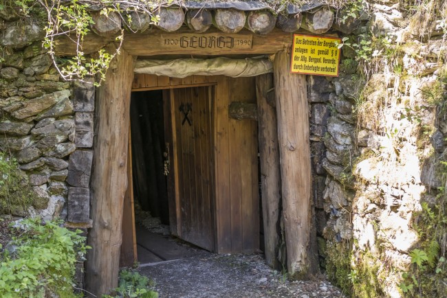
[[[338,78],[308,78],[320,260],[354,297],[441,297],[445,225],[422,223],[426,212],[444,216],[445,34],[421,34],[428,16],[404,3],[367,2],[353,34],[373,41],[369,77],[343,47]],[[435,264],[419,267],[411,254],[428,253],[429,239]]]

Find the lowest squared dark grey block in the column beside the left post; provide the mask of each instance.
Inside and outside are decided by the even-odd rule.
[[[89,222],[90,190],[88,188],[69,187],[67,219],[69,222]]]

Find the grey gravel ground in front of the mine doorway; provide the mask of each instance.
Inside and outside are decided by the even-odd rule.
[[[193,257],[142,266],[139,271],[155,282],[160,298],[345,297],[323,276],[287,280],[269,268],[262,255],[217,255],[197,249]]]

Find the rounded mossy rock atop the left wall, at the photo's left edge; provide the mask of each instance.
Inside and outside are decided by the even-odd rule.
[[[8,23],[1,31],[0,45],[18,49],[33,41],[41,41],[45,32],[43,26],[34,21],[17,21]]]

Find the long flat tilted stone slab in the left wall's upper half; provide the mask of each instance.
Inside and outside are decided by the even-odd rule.
[[[70,91],[63,90],[56,91],[51,94],[45,94],[39,98],[34,98],[32,100],[20,102],[21,108],[12,112],[11,115],[12,117],[15,117],[17,119],[25,119],[27,117],[37,115],[58,102],[65,102],[65,100],[68,100],[69,95]],[[48,115],[47,117],[50,117],[50,115]],[[41,119],[42,118],[44,117],[41,117]]]

